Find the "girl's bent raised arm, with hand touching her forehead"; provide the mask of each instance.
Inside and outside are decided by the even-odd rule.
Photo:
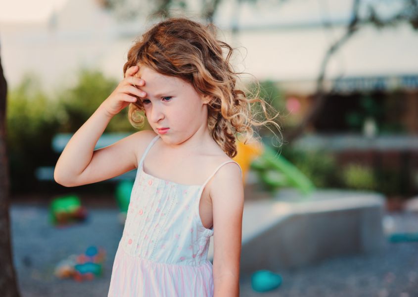
[[[91,184],[136,168],[136,148],[139,143],[144,142],[139,138],[149,138],[147,132],[134,133],[106,148],[94,150],[94,147],[111,118],[130,102],[137,100],[131,95],[145,96],[145,92],[132,85],[144,85],[142,79],[133,76],[138,70],[138,66],[128,68],[125,78],[112,94],[74,133],[55,165],[54,180],[58,184],[66,187]]]

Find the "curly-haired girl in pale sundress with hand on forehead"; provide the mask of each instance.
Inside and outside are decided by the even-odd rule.
[[[252,118],[249,103],[266,111],[265,103],[235,90],[232,48],[213,28],[170,18],[143,34],[129,50],[124,79],[57,161],[54,179],[66,187],[138,168],[109,297],[239,296],[244,194],[241,168],[231,158],[237,133],[248,139],[251,125],[275,122]],[[94,150],[110,119],[128,105],[130,122],[140,127],[143,112],[152,130]]]

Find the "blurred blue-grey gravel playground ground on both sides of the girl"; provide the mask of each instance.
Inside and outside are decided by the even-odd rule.
[[[23,297],[107,296],[113,259],[123,231],[115,207],[89,207],[89,219],[57,229],[47,222],[46,204],[10,207],[13,260]],[[418,232],[418,214],[390,213],[390,232]],[[103,276],[75,282],[53,275],[56,263],[91,245],[106,250]],[[388,243],[380,252],[328,259],[295,270],[278,270],[282,285],[270,292],[251,289],[240,280],[242,297],[415,297],[418,296],[418,242]]]

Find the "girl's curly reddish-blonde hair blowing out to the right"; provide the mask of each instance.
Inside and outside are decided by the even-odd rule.
[[[279,113],[269,118],[266,106],[273,107],[258,98],[260,88],[256,95],[249,92],[252,99],[235,88],[237,75],[244,72],[232,70],[230,58],[233,49],[216,39],[216,29],[213,24],[203,25],[185,17],[160,21],[129,49],[123,73],[131,66],[145,65],[160,74],[185,80],[200,95],[209,95],[209,131],[218,145],[232,158],[237,153],[235,142],[238,136],[243,136],[244,144],[254,138],[252,126],[272,123],[280,131],[279,125],[273,121]],[[226,58],[223,49],[228,50]],[[260,103],[263,112],[260,108],[257,108],[258,112],[254,112],[254,103]],[[143,110],[141,100],[129,105],[128,118],[136,128],[143,126]],[[260,112],[267,118],[265,121],[255,119]]]

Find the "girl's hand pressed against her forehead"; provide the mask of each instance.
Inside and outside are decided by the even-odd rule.
[[[129,103],[136,102],[137,98],[132,95],[145,97],[146,93],[144,91],[134,87],[143,86],[145,84],[143,79],[134,76],[138,70],[139,66],[128,68],[125,73],[125,78],[119,83],[112,94],[101,103],[101,106],[110,117],[119,113],[128,106]]]

